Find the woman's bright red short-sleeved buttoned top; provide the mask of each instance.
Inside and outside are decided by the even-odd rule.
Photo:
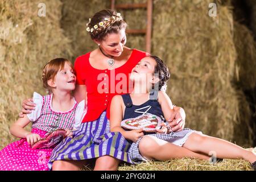
[[[146,52],[133,49],[129,59],[121,67],[109,69],[96,69],[89,63],[90,52],[77,57],[75,72],[77,85],[86,85],[87,113],[82,122],[98,119],[106,110],[110,118],[110,103],[117,94],[131,93],[133,83],[129,81],[131,69],[143,58],[149,55]]]

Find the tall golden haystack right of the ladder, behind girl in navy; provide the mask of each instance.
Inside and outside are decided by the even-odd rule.
[[[248,130],[235,127],[241,121],[239,104],[242,100],[248,108],[248,103],[232,84],[237,59],[232,11],[219,4],[218,17],[209,17],[209,3],[154,1],[152,52],[171,69],[167,93],[184,107],[186,127],[237,142],[236,131]],[[250,118],[248,110],[244,114]],[[246,146],[252,140],[237,143]]]

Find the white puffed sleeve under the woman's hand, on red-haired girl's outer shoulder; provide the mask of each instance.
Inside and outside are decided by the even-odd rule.
[[[41,96],[39,93],[34,92],[33,102],[36,104],[35,110],[32,110],[32,113],[27,114],[28,119],[30,119],[30,121],[32,122],[36,121],[41,115],[43,96]]]

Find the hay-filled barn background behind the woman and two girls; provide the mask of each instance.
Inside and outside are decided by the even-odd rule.
[[[124,2],[146,0],[116,1]],[[217,17],[208,15],[212,2]],[[38,16],[39,3],[46,17]],[[74,61],[96,48],[86,23],[106,8],[110,1],[0,1],[0,149],[17,139],[9,127],[22,100],[34,91],[46,94],[43,65],[55,57]],[[129,28],[146,26],[146,10],[119,12]],[[152,21],[151,53],[170,68],[167,93],[185,109],[185,127],[254,147],[256,1],[154,0]],[[127,40],[128,47],[145,50],[143,35],[128,34]]]

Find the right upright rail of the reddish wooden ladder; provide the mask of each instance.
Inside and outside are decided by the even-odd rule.
[[[146,32],[146,52],[151,52],[151,34],[152,34],[152,13],[153,13],[153,2],[147,0],[147,32]]]

